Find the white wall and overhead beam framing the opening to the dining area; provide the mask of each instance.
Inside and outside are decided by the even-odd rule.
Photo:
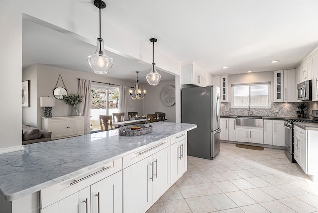
[[[41,0],[39,3],[38,0],[8,0],[1,1],[0,4],[0,90],[10,90],[2,92],[0,96],[1,100],[5,101],[5,104],[0,106],[0,111],[5,112],[0,117],[1,121],[5,121],[0,124],[0,149],[3,149],[22,144],[22,17],[40,20],[41,24],[49,27],[57,26],[64,29],[61,32],[95,45],[98,12],[91,12],[94,5],[87,1]],[[151,64],[150,42],[142,42],[143,38],[138,38],[107,20],[103,20],[103,26],[105,27],[102,28],[102,35],[107,41],[107,50]],[[156,65],[160,70],[180,75],[179,63],[157,50],[155,52]]]

